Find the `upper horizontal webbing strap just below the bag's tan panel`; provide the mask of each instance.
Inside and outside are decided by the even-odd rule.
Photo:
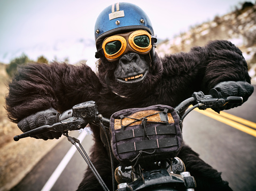
[[[154,126],[146,127],[146,132],[148,135],[166,135],[166,134],[176,134],[175,124],[168,124],[167,126]],[[142,137],[144,135],[144,129],[130,129],[125,131],[120,131],[115,133],[115,139],[117,142],[120,140],[125,140],[128,138]]]

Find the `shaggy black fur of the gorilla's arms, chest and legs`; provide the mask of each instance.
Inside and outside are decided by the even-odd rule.
[[[193,47],[189,53],[166,55],[164,58],[156,55],[156,61],[150,63],[149,74],[141,85],[128,87],[117,82],[113,74],[117,64],[102,59],[98,64],[98,75],[87,65],[56,62],[20,68],[9,85],[10,92],[6,97],[9,118],[17,123],[50,107],[63,112],[77,103],[90,100],[96,101],[99,112],[110,118],[112,113],[131,107],[154,104],[175,107],[193,92],[201,90],[207,94],[222,81],[250,83],[242,52],[229,41],[211,41],[205,47]],[[91,129],[95,139],[91,160],[110,187],[110,161],[104,139],[100,139],[98,127],[91,126]],[[183,146],[179,157],[196,178],[197,190],[231,190],[220,173],[199,159],[188,146]],[[87,170],[79,190],[99,189],[97,180]]]

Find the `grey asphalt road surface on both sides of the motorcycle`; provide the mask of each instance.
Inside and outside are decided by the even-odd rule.
[[[255,111],[256,90],[249,101],[242,106],[224,112],[256,123]],[[239,122],[241,123],[241,120]],[[72,132],[72,136],[78,137],[79,133]],[[186,144],[200,154],[201,159],[222,172],[222,178],[229,181],[234,191],[256,190],[256,137],[254,135],[192,111],[184,119],[183,138]],[[82,142],[87,152],[91,144],[92,137],[88,135]],[[42,190],[70,147],[71,143],[66,139],[61,140],[12,190]],[[86,166],[86,162],[76,151],[60,176],[57,176],[56,182],[50,181],[53,184],[50,190],[76,190]]]

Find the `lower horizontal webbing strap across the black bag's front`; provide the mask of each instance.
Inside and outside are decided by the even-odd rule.
[[[152,148],[165,148],[170,146],[177,146],[177,138],[163,138],[153,140],[141,140],[138,142],[125,143],[117,145],[118,154],[133,151],[148,150]]]

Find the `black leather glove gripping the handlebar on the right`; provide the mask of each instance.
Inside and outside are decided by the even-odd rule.
[[[220,98],[227,98],[228,96],[243,97],[243,103],[252,95],[254,87],[246,81],[223,81],[217,84],[216,89],[220,95]],[[215,108],[214,111],[220,113],[222,110],[229,110],[233,107],[237,107],[240,104],[226,104],[223,107]]]

